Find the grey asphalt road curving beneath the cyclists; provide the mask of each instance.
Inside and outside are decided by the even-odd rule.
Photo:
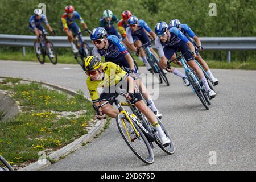
[[[208,111],[181,78],[168,73],[170,86],[159,85],[155,104],[174,140],[175,154],[167,155],[157,147],[155,163],[144,164],[112,119],[100,137],[46,170],[256,170],[256,71],[212,72],[220,84]],[[79,65],[0,61],[0,76],[50,82],[81,89],[89,96]],[[157,93],[157,86],[153,90]]]

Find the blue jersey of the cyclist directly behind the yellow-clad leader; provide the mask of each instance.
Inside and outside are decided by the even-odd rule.
[[[115,59],[116,61],[126,60],[125,55],[127,55],[128,51],[126,47],[121,43],[115,35],[108,36],[109,47],[108,49],[97,49],[96,46],[93,48],[93,55],[94,56],[105,56],[105,58]]]

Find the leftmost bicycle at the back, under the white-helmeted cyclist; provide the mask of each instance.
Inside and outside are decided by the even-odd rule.
[[[40,34],[40,53],[36,51],[37,40],[34,43],[36,58],[38,59],[39,63],[44,64],[46,61],[46,56],[48,56],[52,64],[57,64],[57,52],[53,46],[53,43],[46,38],[47,34],[48,32]]]

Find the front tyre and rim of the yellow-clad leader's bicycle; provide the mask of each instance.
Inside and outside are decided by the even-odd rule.
[[[127,133],[126,131],[123,131],[122,128],[123,128],[123,124],[122,124],[122,119],[125,121],[125,124],[126,125],[131,125],[129,121],[127,121],[126,119],[126,116],[124,114],[118,114],[117,115],[117,118],[116,118],[116,121],[117,121],[117,126],[118,126],[118,130],[120,131],[123,139],[125,140],[126,144],[129,146],[129,148],[131,149],[131,151],[134,152],[134,154],[139,158],[141,159],[144,163],[146,164],[152,164],[154,163],[154,154],[153,154],[153,151],[152,151],[152,148],[150,146],[150,143],[148,142],[147,138],[144,136],[143,132],[141,131],[141,129],[133,122],[133,125],[135,126],[136,130],[138,131],[140,137],[138,138],[137,136],[135,136],[134,134],[134,137],[133,138],[134,140],[131,142],[129,138],[127,138]],[[130,126],[131,127],[131,126]],[[133,127],[131,127],[131,129],[133,130]],[[133,131],[134,132],[134,131]],[[130,134],[132,134],[133,132],[130,132]],[[135,149],[134,146],[132,145],[132,143],[135,143],[135,141],[138,141],[139,140],[141,141],[141,144],[139,144],[138,146],[138,149]],[[137,143],[137,142],[136,142]],[[145,147],[145,156],[142,156],[141,152],[139,152],[138,150],[140,148],[142,148],[143,146],[143,143],[144,143],[144,147]]]

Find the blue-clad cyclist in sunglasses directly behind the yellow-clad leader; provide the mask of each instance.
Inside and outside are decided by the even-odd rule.
[[[147,103],[151,106],[152,111],[154,111],[155,115],[161,119],[162,114],[159,113],[158,109],[154,104],[150,94],[148,93],[146,86],[142,83],[141,79],[139,79],[138,71],[134,67],[133,59],[130,53],[127,51],[126,47],[121,43],[121,41],[115,35],[110,35],[106,37],[106,31],[102,27],[94,28],[92,34],[90,35],[90,39],[93,41],[95,45],[92,51],[94,56],[104,56],[105,61],[113,62],[115,64],[120,65],[124,68],[130,68],[131,72],[139,90]],[[101,59],[101,58],[100,58]]]

